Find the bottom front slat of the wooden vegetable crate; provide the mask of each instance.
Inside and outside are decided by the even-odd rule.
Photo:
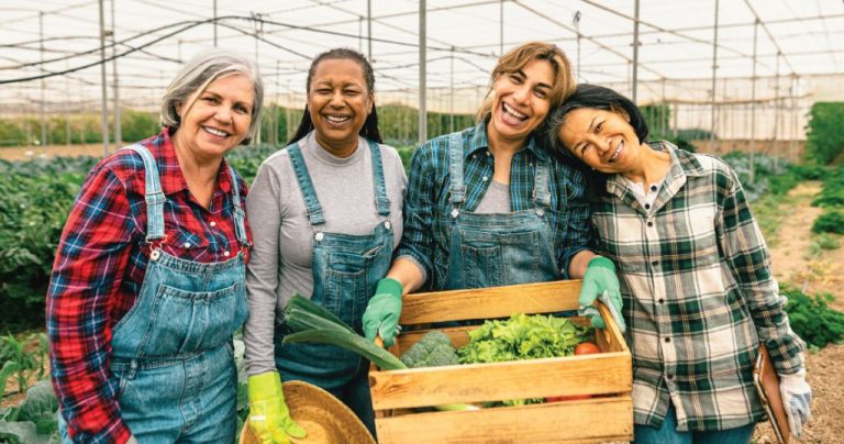
[[[630,396],[376,420],[380,443],[548,443],[633,439]]]

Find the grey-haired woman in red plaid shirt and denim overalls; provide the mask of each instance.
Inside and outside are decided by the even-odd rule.
[[[167,88],[162,132],[82,185],[47,292],[64,442],[234,441],[252,243],[224,155],[258,131],[262,100],[252,62],[201,53]]]

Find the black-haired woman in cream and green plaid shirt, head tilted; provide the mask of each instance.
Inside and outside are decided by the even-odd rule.
[[[735,171],[646,142],[635,104],[592,85],[552,114],[547,136],[590,178],[598,251],[619,268],[635,442],[747,443],[764,415],[752,376],[759,344],[799,436],[812,397],[804,344]]]

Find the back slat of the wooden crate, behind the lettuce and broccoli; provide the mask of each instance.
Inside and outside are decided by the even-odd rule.
[[[509,318],[514,313],[577,310],[580,280],[411,293],[402,298],[402,325],[469,319]]]

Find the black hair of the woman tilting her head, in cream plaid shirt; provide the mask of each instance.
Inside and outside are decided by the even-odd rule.
[[[597,85],[578,85],[577,88],[575,88],[575,92],[569,96],[563,104],[548,114],[542,132],[545,134],[545,142],[551,147],[551,152],[560,160],[577,168],[584,176],[586,176],[588,196],[590,198],[596,198],[607,193],[608,175],[596,171],[582,160],[575,157],[575,155],[571,154],[559,140],[559,130],[566,123],[568,114],[571,111],[581,108],[591,108],[624,114],[641,144],[646,142],[648,129],[647,122],[645,121],[644,115],[642,115],[642,111],[638,110],[638,107],[636,107],[635,103],[610,88]]]

